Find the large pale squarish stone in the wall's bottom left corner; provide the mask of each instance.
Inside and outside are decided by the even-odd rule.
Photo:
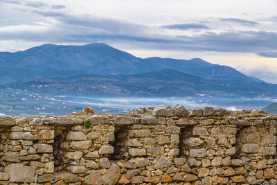
[[[10,164],[6,166],[5,172],[10,175],[10,182],[35,182],[35,166]]]

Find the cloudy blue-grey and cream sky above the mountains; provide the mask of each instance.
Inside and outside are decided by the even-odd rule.
[[[0,0],[0,51],[94,42],[277,83],[276,0]]]

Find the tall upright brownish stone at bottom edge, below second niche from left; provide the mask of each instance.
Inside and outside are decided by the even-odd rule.
[[[107,173],[102,176],[103,184],[114,185],[120,178],[120,168],[116,164],[111,164],[111,167],[107,170]]]

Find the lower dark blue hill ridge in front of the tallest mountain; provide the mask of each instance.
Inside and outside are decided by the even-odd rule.
[[[135,75],[33,78],[2,85],[1,88],[56,95],[277,97],[277,85],[207,80],[174,69],[161,69]]]

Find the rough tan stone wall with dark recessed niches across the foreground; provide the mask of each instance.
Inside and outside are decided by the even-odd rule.
[[[276,121],[178,105],[0,117],[0,184],[276,184]]]

